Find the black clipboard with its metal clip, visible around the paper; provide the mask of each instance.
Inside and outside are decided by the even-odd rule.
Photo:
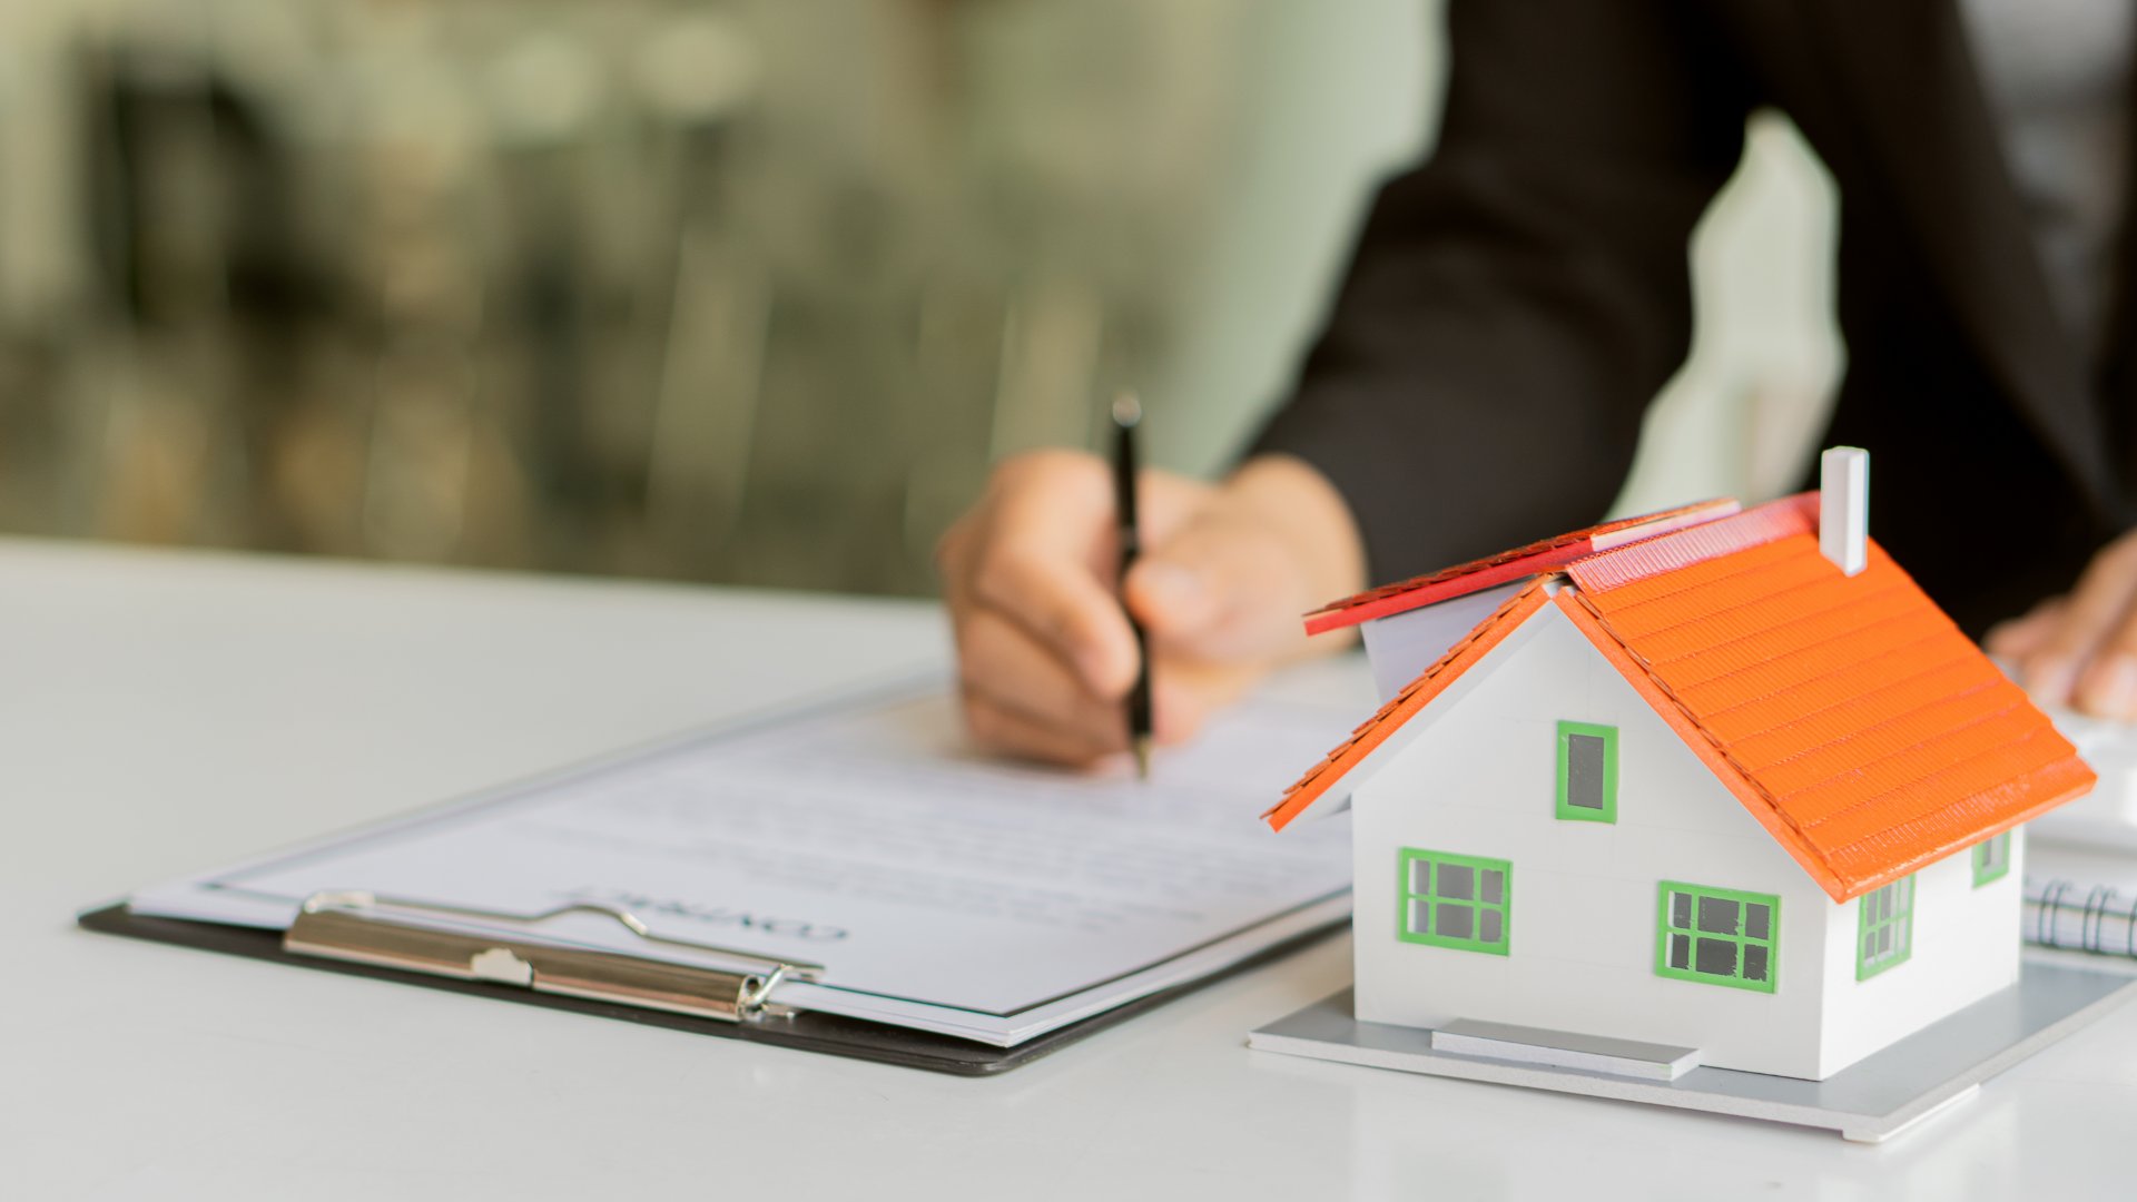
[[[124,903],[85,911],[77,922],[85,930],[222,952],[248,960],[274,960],[951,1076],[996,1076],[1028,1065],[1212,982],[1301,950],[1346,922],[1338,920],[1299,933],[1207,977],[1139,997],[1011,1048],[996,1048],[932,1031],[778,1005],[778,982],[784,977],[808,980],[810,969],[821,969],[818,965],[782,965],[733,952],[733,971],[680,969],[615,952],[581,952],[487,935],[438,933],[408,922],[406,911],[410,909],[425,907],[365,894],[321,894],[306,903],[306,913],[288,933],[150,918],[132,913]],[[549,915],[524,922],[541,918]],[[618,915],[611,911],[611,918]],[[641,933],[641,937],[650,935]],[[695,947],[724,952],[709,945]]]

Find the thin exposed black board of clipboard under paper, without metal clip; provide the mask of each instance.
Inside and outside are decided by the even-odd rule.
[[[1327,926],[1306,930],[1229,969],[1148,997],[1139,997],[1103,1014],[1094,1014],[1090,1018],[1081,1018],[1066,1027],[1047,1031],[1045,1035],[1026,1039],[1024,1044],[1017,1044],[1013,1048],[996,1048],[989,1044],[974,1044],[970,1039],[957,1039],[951,1035],[910,1031],[887,1022],[868,1022],[859,1018],[844,1018],[838,1014],[816,1014],[816,1012],[801,1012],[789,1018],[778,1018],[767,1022],[722,1022],[716,1018],[697,1018],[688,1014],[648,1010],[643,1005],[624,1005],[615,1001],[566,997],[556,992],[534,992],[528,988],[515,988],[496,982],[453,980],[453,977],[440,977],[383,965],[361,965],[350,960],[299,956],[282,947],[280,930],[265,930],[254,926],[227,926],[218,922],[192,922],[177,918],[150,918],[132,913],[130,909],[126,909],[124,903],[90,909],[81,913],[77,922],[85,930],[98,930],[105,935],[124,935],[128,939],[147,939],[152,943],[171,943],[177,947],[199,947],[205,952],[246,956],[250,960],[274,960],[280,965],[325,969],[329,973],[389,980],[389,982],[459,992],[470,997],[485,997],[492,1001],[545,1005],[551,1010],[568,1010],[575,1014],[592,1014],[598,1018],[620,1018],[624,1022],[641,1022],[645,1027],[665,1027],[669,1031],[688,1031],[695,1035],[714,1035],[720,1039],[746,1039],[752,1044],[769,1044],[776,1048],[797,1048],[804,1052],[853,1057],[859,1061],[876,1061],[885,1065],[927,1069],[953,1076],[996,1076],[1013,1067],[1028,1065],[1041,1057],[1058,1052],[1081,1039],[1088,1039],[1098,1031],[1126,1022],[1137,1014],[1156,1010],[1167,1001],[1195,992],[1197,988],[1203,988],[1212,982],[1227,980],[1248,969],[1267,965],[1280,956],[1286,956],[1299,947],[1306,947],[1308,943],[1327,937],[1336,928],[1344,926],[1348,920],[1338,920]]]

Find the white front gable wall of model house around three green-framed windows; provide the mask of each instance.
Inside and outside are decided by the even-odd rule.
[[[1616,823],[1556,817],[1560,719],[1618,727]],[[1564,614],[1530,616],[1391,744],[1353,806],[1359,1018],[1485,1018],[1821,1074],[1838,907]],[[1511,862],[1507,956],[1398,939],[1402,847]],[[1665,879],[1780,898],[1774,992],[1656,975]]]

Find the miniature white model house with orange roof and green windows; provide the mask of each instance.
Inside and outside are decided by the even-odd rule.
[[[1866,490],[1827,451],[1310,616],[1385,706],[1265,817],[1353,811],[1359,1020],[1823,1080],[2017,980],[2019,823],[2094,776]]]

